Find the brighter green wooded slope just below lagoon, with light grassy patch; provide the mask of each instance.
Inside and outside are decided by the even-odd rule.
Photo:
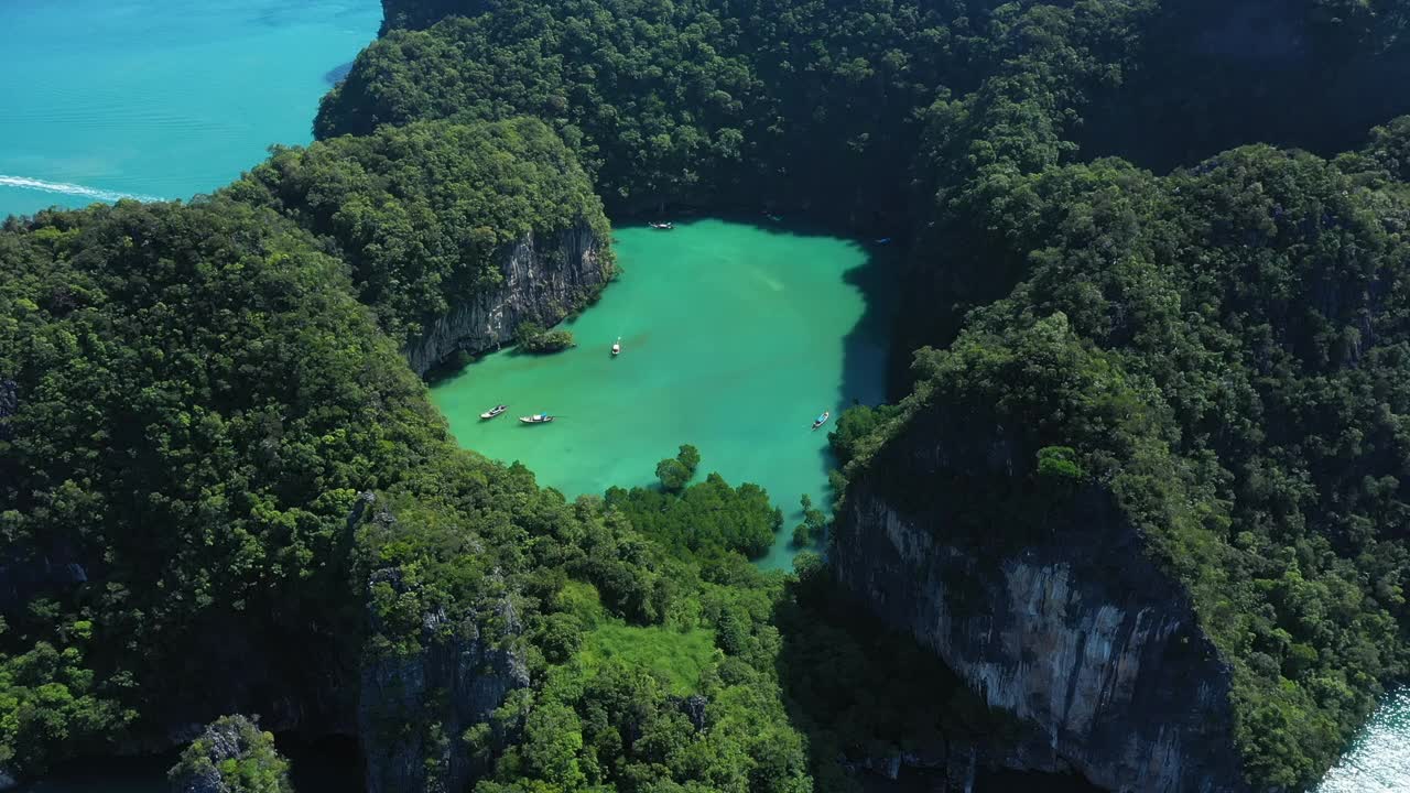
[[[723,550],[702,570],[637,535],[611,501],[565,504],[520,467],[434,480],[440,498],[393,495],[384,508],[395,521],[364,525],[374,566],[398,571],[374,593],[368,649],[396,658],[454,641],[420,629],[423,615],[446,614],[527,659],[532,687],[462,737],[488,762],[477,790],[809,789],[777,680],[780,576]],[[517,484],[501,495],[508,480]],[[691,491],[701,488],[713,492]],[[733,515],[774,519],[763,497]],[[434,738],[440,707],[433,698],[388,722]]]

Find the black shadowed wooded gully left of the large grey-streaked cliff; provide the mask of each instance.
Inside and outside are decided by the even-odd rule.
[[[784,704],[808,739],[818,793],[1098,792],[1074,775],[997,768],[993,758],[1043,739],[990,710],[931,650],[839,590],[822,566],[787,584],[774,624]]]

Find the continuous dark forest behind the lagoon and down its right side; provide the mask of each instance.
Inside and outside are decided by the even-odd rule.
[[[1303,85],[1296,75],[1394,73],[1399,4],[1242,3],[1206,17],[1158,3],[603,0],[553,18],[529,3],[482,6],[494,13],[392,32],[369,48],[324,102],[320,131],[533,113],[584,152],[609,206],[750,193],[805,205],[788,189],[818,179],[830,188],[819,193],[825,214],[907,217],[915,236],[902,347],[959,337],[983,349],[1063,312],[1058,337],[1131,381],[1131,392],[1112,396],[1134,412],[1120,422],[1138,422],[1149,440],[1120,440],[1136,430],[1117,432],[1118,418],[1104,413],[1080,432],[1067,418],[1039,429],[1043,416],[1073,415],[1052,399],[1083,402],[1096,385],[1036,382],[1039,401],[1022,418],[1039,422],[1042,444],[1076,447],[1083,477],[1108,483],[1149,464],[1165,473],[1145,476],[1186,481],[1208,500],[1194,516],[1148,518],[1152,553],[1191,587],[1235,665],[1253,782],[1314,777],[1379,683],[1403,674],[1404,550],[1393,526],[1404,497],[1394,416],[1404,406],[1386,391],[1397,380],[1390,350],[1403,343],[1393,309],[1399,188],[1366,155],[1328,164],[1268,148],[1167,179],[1118,161],[1070,165],[1080,143],[1151,162],[1248,140],[1241,133],[1344,144],[1345,124],[1313,120],[1313,109],[1348,102],[1335,80],[1304,86],[1297,114],[1259,114],[1241,128],[1230,109],[1268,86],[1282,92],[1279,80]],[[1232,52],[1241,30],[1282,49],[1261,59]],[[1191,78],[1224,69],[1232,79],[1191,106],[1200,87],[1169,68],[1176,54]],[[1132,143],[1087,128],[1115,120],[1132,97],[1183,104],[1183,127],[1136,143],[1132,130],[1151,120],[1129,113],[1121,128]],[[1382,92],[1376,106],[1403,111],[1404,96]],[[1380,135],[1380,162],[1393,157],[1393,137]],[[857,200],[876,193],[887,198]],[[880,214],[859,216],[859,206]],[[1080,380],[1086,364],[1073,361],[1065,377]],[[945,371],[955,387],[957,374]],[[1018,371],[984,377],[990,399],[1024,389]],[[1097,454],[1097,440],[1128,450],[1107,449],[1097,464],[1083,457]],[[1132,449],[1167,449],[1170,461],[1141,463]],[[1265,562],[1249,567],[1252,559]],[[1321,605],[1299,617],[1306,598]]]

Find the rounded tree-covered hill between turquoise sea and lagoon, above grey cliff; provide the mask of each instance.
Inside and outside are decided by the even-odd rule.
[[[505,251],[523,240],[572,229],[608,238],[602,203],[574,155],[532,119],[275,147],[227,192],[320,236],[399,341],[502,285]],[[609,253],[602,265],[611,267]]]

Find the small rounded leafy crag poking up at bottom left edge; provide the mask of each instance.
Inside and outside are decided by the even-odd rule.
[[[274,735],[243,715],[227,715],[206,727],[168,776],[178,793],[293,793],[289,762],[275,749]]]

